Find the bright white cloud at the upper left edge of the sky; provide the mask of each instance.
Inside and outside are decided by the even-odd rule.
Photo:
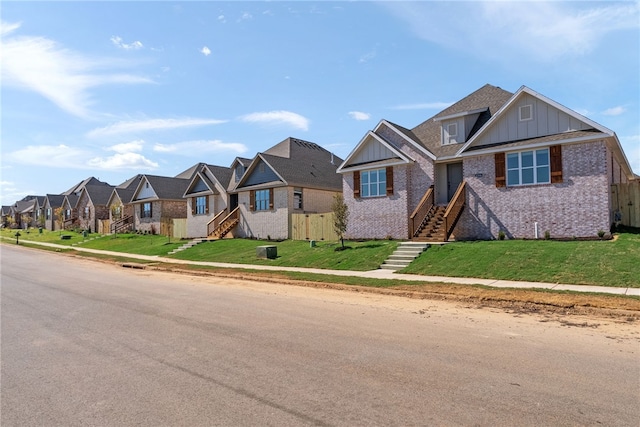
[[[18,24],[2,24],[12,32]],[[44,37],[11,36],[0,39],[2,85],[36,92],[64,111],[90,118],[93,99],[89,90],[109,83],[151,83],[130,74],[110,74],[105,70],[115,61],[93,60],[59,46]]]

